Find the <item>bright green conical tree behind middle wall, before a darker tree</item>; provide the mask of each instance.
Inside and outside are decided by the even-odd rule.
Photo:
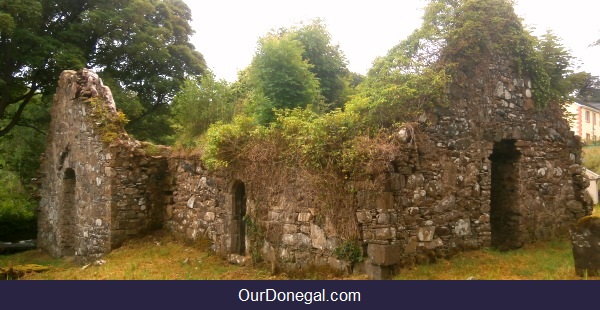
[[[293,109],[316,103],[319,81],[302,58],[302,44],[289,36],[269,34],[259,40],[249,72],[255,87],[251,108],[262,124],[274,120],[273,109]]]

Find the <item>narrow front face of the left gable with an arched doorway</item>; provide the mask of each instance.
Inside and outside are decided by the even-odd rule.
[[[40,169],[38,244],[54,256],[94,256],[110,249],[111,176],[104,170],[110,152],[87,121],[89,106],[76,98],[88,78],[97,82],[74,71],[61,75]],[[108,88],[97,91],[112,100]]]

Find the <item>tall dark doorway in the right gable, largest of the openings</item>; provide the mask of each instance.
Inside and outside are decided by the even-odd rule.
[[[521,242],[519,210],[519,160],[521,153],[516,140],[502,140],[494,144],[492,163],[492,190],[490,221],[492,246],[500,250],[516,249]]]

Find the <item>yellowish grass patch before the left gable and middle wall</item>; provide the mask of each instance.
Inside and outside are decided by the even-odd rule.
[[[285,280],[342,279],[328,270],[305,274],[273,275],[270,265],[236,266],[214,255],[205,244],[186,244],[157,233],[132,240],[104,257],[106,264],[81,265],[68,259],[52,258],[41,250],[0,255],[0,268],[38,264],[49,266],[43,273],[28,274],[25,280]],[[353,277],[359,279],[364,277]]]

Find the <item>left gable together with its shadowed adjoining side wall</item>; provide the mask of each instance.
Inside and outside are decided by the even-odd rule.
[[[116,113],[110,89],[88,70],[61,74],[40,171],[38,244],[54,256],[96,258],[160,228],[170,189],[165,157],[123,134],[103,141],[91,99]]]

